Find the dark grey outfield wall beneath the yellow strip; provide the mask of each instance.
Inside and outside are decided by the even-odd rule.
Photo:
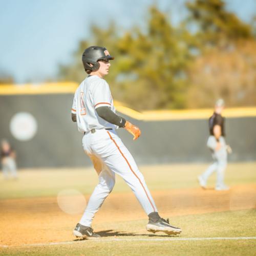
[[[69,91],[2,95],[0,92],[0,139],[6,138],[11,142],[20,168],[91,164],[82,150],[82,134],[71,120],[72,100],[73,93]],[[200,114],[202,111],[193,111],[189,115],[183,115],[183,118],[182,115],[178,117],[177,113],[171,113],[169,116],[176,115],[177,118],[152,120],[148,113],[143,121],[135,119],[136,115],[127,116],[129,112],[123,112],[122,108],[117,109],[120,110],[120,115],[141,129],[142,135],[137,141],[133,141],[132,136],[125,130],[118,131],[138,164],[211,161],[206,141],[207,117],[212,110],[205,112],[203,117]],[[32,139],[16,139],[10,131],[13,116],[20,112],[30,113],[36,120],[37,131]],[[161,116],[154,113],[155,116]],[[139,119],[143,119],[143,115],[141,117]],[[233,149],[229,156],[230,161],[256,160],[255,130],[256,116],[253,114],[243,115],[240,112],[237,117],[232,115],[226,118],[226,140]]]

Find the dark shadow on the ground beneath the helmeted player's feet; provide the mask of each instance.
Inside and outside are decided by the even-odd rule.
[[[168,235],[168,234],[138,234],[138,233],[132,233],[132,232],[125,232],[125,231],[115,231],[113,229],[109,230],[102,230],[97,232],[97,234],[100,235],[100,237],[159,237],[159,238],[164,238],[164,237],[179,237],[179,235]],[[74,241],[81,241],[81,240],[87,240],[90,238],[79,238],[79,239],[74,239]]]

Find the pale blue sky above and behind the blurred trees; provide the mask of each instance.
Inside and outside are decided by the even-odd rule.
[[[177,24],[185,0],[0,0],[0,74],[17,83],[54,77],[58,63],[68,63],[78,41],[89,38],[90,25],[143,26],[147,7],[157,3]],[[255,0],[226,0],[227,9],[245,22],[256,15]]]

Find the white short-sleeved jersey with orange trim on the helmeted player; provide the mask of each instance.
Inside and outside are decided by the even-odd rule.
[[[116,112],[109,84],[96,75],[88,76],[76,89],[71,110],[76,114],[79,132],[87,133],[92,129],[105,128],[114,130],[117,127],[98,116],[96,109],[99,106],[109,106]]]

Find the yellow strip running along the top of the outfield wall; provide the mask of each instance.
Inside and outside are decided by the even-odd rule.
[[[0,95],[31,95],[31,94],[73,94],[78,87],[76,82],[49,82],[39,84],[4,84],[0,85]],[[207,119],[214,111],[212,109],[193,110],[156,110],[138,112],[125,106],[120,101],[114,102],[116,110],[123,115],[137,120],[144,121],[165,121],[165,120],[185,120],[185,119]],[[256,107],[251,108],[230,108],[223,111],[223,116],[235,117],[255,117]]]

